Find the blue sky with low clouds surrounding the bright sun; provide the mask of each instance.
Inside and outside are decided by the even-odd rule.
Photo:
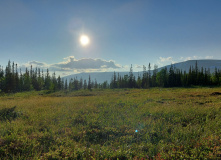
[[[0,65],[10,60],[65,76],[221,59],[220,6],[220,0],[0,0]]]

